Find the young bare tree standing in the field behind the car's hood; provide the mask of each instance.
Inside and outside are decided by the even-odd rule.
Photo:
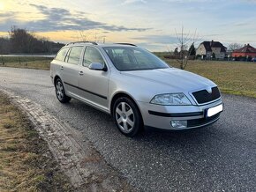
[[[177,33],[175,29],[175,33],[177,36],[177,47],[180,49],[178,55],[176,56],[177,62],[180,64],[180,69],[184,70],[186,67],[189,56],[192,54],[192,46],[196,41],[199,41],[199,35],[197,30],[194,33],[184,33],[184,26],[181,28],[181,33]],[[187,48],[190,48],[187,50]]]

